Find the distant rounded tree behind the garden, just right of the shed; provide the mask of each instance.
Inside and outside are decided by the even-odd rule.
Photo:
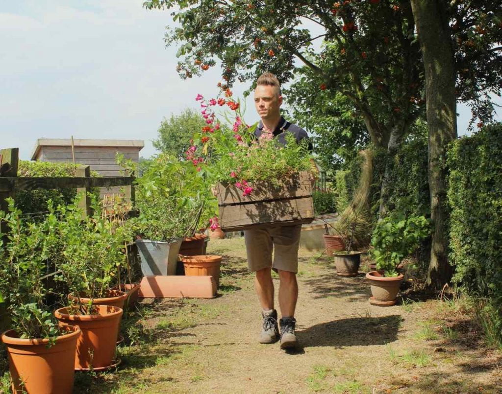
[[[206,125],[202,116],[187,108],[179,115],[164,118],[157,130],[159,137],[152,141],[154,147],[163,153],[183,158],[190,146],[192,136]]]

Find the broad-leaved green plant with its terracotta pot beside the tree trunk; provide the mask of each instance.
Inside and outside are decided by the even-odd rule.
[[[423,216],[405,217],[397,213],[376,224],[371,237],[371,254],[377,271],[366,274],[372,305],[390,306],[396,303],[404,275],[398,272],[401,261],[413,253],[429,234],[429,221]]]

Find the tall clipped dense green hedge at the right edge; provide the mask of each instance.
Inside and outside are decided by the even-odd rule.
[[[470,294],[502,298],[502,123],[448,151],[453,280]]]

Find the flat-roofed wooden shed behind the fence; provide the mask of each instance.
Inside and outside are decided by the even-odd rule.
[[[74,139],[76,164],[88,164],[91,170],[102,176],[121,176],[121,167],[115,156],[138,162],[140,150],[145,143],[140,139]],[[32,153],[32,160],[50,162],[73,162],[71,139],[39,138]]]

